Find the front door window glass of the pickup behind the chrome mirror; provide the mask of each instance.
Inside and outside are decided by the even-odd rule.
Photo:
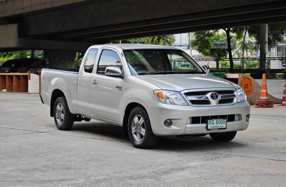
[[[105,68],[109,66],[119,67],[122,70],[122,62],[118,54],[114,51],[103,50],[98,62],[97,73],[105,74]]]

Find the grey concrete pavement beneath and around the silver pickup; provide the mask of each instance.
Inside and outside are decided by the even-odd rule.
[[[0,186],[285,186],[285,111],[251,106],[231,142],[162,137],[141,150],[119,126],[59,131],[37,94],[0,92]]]

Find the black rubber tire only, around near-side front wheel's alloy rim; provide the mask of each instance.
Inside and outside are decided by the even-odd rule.
[[[138,130],[140,130],[140,136],[142,138],[141,141],[137,141],[135,139],[135,137],[134,137],[135,134],[133,136],[134,131],[132,132],[132,125],[134,125],[134,127],[135,127],[136,123],[134,122],[132,124],[132,122],[134,121],[135,117],[138,117],[137,119],[141,119],[141,117],[142,117],[144,120],[143,121],[144,125],[142,124],[142,126],[140,127],[139,122],[138,122],[138,126],[137,126],[137,127],[139,127]],[[143,136],[143,134],[141,134],[141,129],[143,129],[143,126],[145,129],[144,136]],[[148,114],[144,110],[144,108],[142,108],[142,107],[133,108],[133,110],[131,111],[131,113],[129,115],[129,120],[128,120],[128,134],[129,134],[129,139],[130,139],[132,145],[136,148],[146,149],[146,148],[151,148],[151,147],[154,147],[157,145],[158,137],[153,134]],[[137,133],[137,134],[139,134],[139,133]],[[138,138],[138,136],[136,138]]]

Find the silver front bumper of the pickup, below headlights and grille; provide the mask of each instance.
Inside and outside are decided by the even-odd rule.
[[[249,121],[246,122],[245,116],[250,114],[250,105],[248,101],[234,105],[208,107],[169,105],[158,102],[148,106],[146,110],[153,133],[156,136],[178,136],[245,130],[249,125]],[[206,123],[190,124],[190,117],[232,114],[240,117],[236,118],[235,121],[227,122],[227,129],[223,130],[208,131]],[[172,120],[172,126],[164,126],[164,121],[167,119]]]

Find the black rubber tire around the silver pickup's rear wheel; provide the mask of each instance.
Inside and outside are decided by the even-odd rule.
[[[62,112],[57,112],[57,106],[62,106],[63,110]],[[59,122],[59,115],[60,113],[64,114],[64,119],[61,118],[62,122]],[[59,97],[56,99],[56,102],[54,104],[54,120],[55,120],[55,124],[56,127],[59,130],[69,130],[71,129],[71,127],[73,127],[73,122],[74,122],[74,116],[73,114],[71,114],[71,112],[68,109],[68,103],[66,102],[66,98],[65,97]],[[58,120],[57,120],[58,118]]]

